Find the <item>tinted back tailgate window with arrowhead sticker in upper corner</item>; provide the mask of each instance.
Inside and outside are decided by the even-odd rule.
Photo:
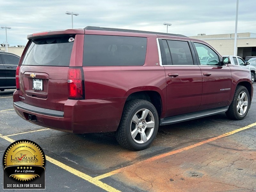
[[[74,36],[33,39],[22,65],[69,66],[73,44]]]

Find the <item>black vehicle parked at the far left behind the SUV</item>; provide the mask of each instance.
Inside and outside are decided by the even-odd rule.
[[[16,68],[20,57],[13,53],[0,52],[0,91],[16,89]]]

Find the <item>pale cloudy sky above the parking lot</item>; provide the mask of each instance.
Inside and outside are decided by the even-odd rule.
[[[235,32],[236,0],[0,0],[0,26],[10,46],[27,35],[54,29],[99,26],[196,36]],[[256,1],[240,0],[237,33],[256,33]],[[5,29],[0,28],[0,43]]]

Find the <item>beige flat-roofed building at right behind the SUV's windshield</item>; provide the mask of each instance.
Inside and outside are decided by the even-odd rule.
[[[234,36],[235,34],[205,35],[198,34],[190,36],[200,39],[210,44],[221,55],[234,55]],[[256,56],[256,34],[237,33],[237,56]]]

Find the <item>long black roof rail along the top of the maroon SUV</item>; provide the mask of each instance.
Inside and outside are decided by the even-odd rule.
[[[133,33],[149,33],[149,34],[157,34],[157,35],[171,35],[171,36],[180,36],[180,37],[187,37],[185,35],[180,34],[172,34],[172,33],[161,33],[161,32],[152,32],[152,31],[140,31],[140,30],[132,30],[132,29],[118,29],[118,28],[106,28],[106,27],[94,27],[94,26],[87,26],[84,29],[87,30],[101,30],[101,31],[122,31],[122,32],[133,32]]]

